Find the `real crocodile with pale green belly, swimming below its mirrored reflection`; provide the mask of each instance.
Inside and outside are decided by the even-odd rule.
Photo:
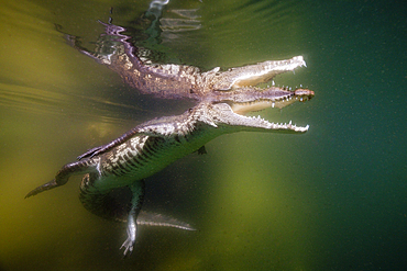
[[[80,201],[87,210],[117,219],[120,219],[118,213],[127,214],[128,238],[121,247],[127,256],[132,252],[136,239],[136,219],[143,203],[145,178],[201,149],[220,135],[242,131],[305,133],[308,125],[272,123],[244,114],[258,108],[283,108],[312,97],[311,90],[289,91],[277,87],[262,91],[242,88],[227,93],[212,92],[184,114],[154,118],[107,145],[86,151],[78,157],[78,161],[65,165],[54,180],[34,189],[26,197],[64,185],[72,176],[85,174],[80,184]],[[125,208],[117,206],[109,196],[113,189],[122,187],[132,191],[131,204]]]

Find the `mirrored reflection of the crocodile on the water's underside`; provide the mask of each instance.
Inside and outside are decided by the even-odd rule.
[[[270,82],[279,74],[305,66],[302,56],[290,59],[263,61],[255,65],[208,71],[189,65],[158,64],[148,58],[151,52],[134,46],[127,29],[100,22],[105,26],[94,50],[81,45],[79,37],[66,34],[68,43],[121,76],[130,87],[144,94],[161,99],[201,100],[213,91],[229,91]],[[252,87],[255,88],[255,87]]]

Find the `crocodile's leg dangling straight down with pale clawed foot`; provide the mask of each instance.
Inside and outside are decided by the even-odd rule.
[[[132,191],[131,207],[128,217],[128,239],[120,249],[124,248],[124,257],[133,251],[135,238],[138,236],[138,216],[144,200],[144,180],[135,181],[130,185]]]

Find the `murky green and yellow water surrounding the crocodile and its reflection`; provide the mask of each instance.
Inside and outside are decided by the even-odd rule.
[[[24,200],[88,148],[190,105],[141,95],[56,31],[94,48],[98,20],[131,26],[148,4],[1,0],[0,270],[405,270],[404,1],[172,0],[156,45],[169,61],[302,55],[275,82],[316,97],[260,114],[309,132],[224,135],[148,178],[143,210],[198,230],[141,227],[124,260],[125,225],[81,206],[79,177]]]

